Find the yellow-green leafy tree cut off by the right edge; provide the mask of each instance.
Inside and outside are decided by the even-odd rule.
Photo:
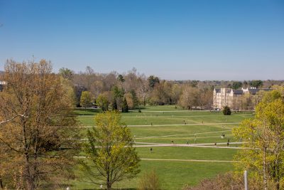
[[[234,128],[237,138],[246,144],[239,155],[239,169],[263,178],[263,187],[283,189],[284,179],[284,102],[282,98],[262,101],[256,107],[253,120],[244,120],[240,127]]]

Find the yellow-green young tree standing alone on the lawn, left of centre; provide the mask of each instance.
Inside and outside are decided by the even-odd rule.
[[[140,159],[133,147],[131,132],[121,123],[119,112],[100,113],[95,120],[97,127],[88,130],[89,141],[84,144],[91,164],[82,161],[81,168],[94,184],[104,181],[107,189],[111,189],[115,182],[131,179],[140,172]]]

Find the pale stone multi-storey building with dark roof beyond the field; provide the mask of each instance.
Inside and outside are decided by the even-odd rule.
[[[219,88],[213,90],[213,108],[222,109],[224,106],[233,107],[234,102],[239,102],[241,97],[246,94],[256,95],[258,91],[269,91],[270,88],[241,88],[234,90],[231,88]]]

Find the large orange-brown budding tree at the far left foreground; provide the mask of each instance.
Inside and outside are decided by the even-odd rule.
[[[9,159],[1,162],[9,189],[40,189],[42,184],[72,174],[70,142],[75,130],[70,87],[52,73],[51,63],[7,60],[1,80],[6,81],[0,96],[0,151]],[[15,117],[16,116],[16,117]],[[13,120],[10,120],[13,119]],[[71,149],[60,150],[60,147]],[[1,154],[1,158],[5,154]],[[3,159],[2,159],[3,160]],[[2,165],[4,164],[4,165]],[[22,181],[11,183],[9,179]]]

